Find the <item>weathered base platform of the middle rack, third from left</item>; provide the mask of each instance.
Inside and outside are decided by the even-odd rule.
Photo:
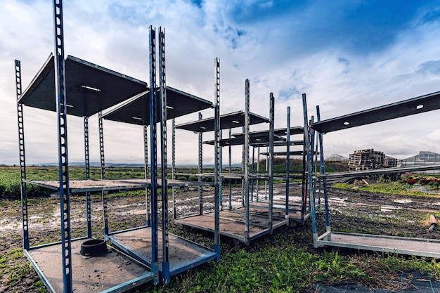
[[[234,209],[232,211],[220,211],[220,235],[231,237],[246,245],[251,240],[256,239],[267,233],[271,233],[268,228],[268,214],[264,209],[253,209],[249,215],[249,236],[245,233],[245,208]],[[188,216],[186,218],[176,219],[175,223],[184,226],[190,226],[201,230],[207,230],[214,233],[214,212]],[[288,219],[284,217],[273,217],[273,229],[287,225]]]

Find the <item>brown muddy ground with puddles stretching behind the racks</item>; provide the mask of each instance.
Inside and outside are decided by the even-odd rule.
[[[233,190],[233,206],[240,204],[241,188]],[[260,186],[260,198],[264,187]],[[213,206],[212,188],[205,188],[206,209]],[[285,185],[275,185],[274,197],[285,193]],[[292,184],[292,198],[299,199],[301,186]],[[176,193],[176,212],[178,215],[197,211],[197,190],[178,190]],[[228,207],[228,188],[224,187],[224,207]],[[428,230],[429,215],[440,219],[440,195],[427,194],[422,197],[403,195],[383,195],[365,193],[358,190],[339,190],[329,188],[330,221],[332,230],[352,233],[380,233],[384,235],[423,237],[439,239],[439,230]],[[169,195],[171,198],[171,194]],[[319,233],[325,232],[323,198],[322,208],[318,209]],[[103,208],[101,195],[92,195],[93,235],[102,236]],[[60,240],[60,208],[56,199],[34,200],[28,206],[31,245],[40,245]],[[108,195],[110,230],[122,230],[141,226],[145,223],[145,197],[129,194],[124,197]],[[172,201],[169,211],[173,211]],[[72,237],[85,235],[84,196],[71,197]],[[169,215],[172,219],[172,214]],[[305,227],[309,229],[309,221]],[[171,225],[174,233],[183,231],[181,226]],[[185,232],[188,233],[188,232]],[[258,240],[257,240],[258,241]],[[305,247],[313,249],[311,239],[299,240]],[[252,245],[252,244],[251,244]],[[37,273],[30,266],[22,251],[22,223],[20,201],[0,201],[0,292],[41,292],[44,288]],[[354,252],[356,253],[356,252]],[[44,292],[44,289],[43,289]]]

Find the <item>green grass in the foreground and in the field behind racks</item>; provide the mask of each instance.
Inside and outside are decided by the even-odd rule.
[[[84,170],[71,168],[70,178],[84,178]],[[106,169],[107,178],[143,178],[143,169]],[[100,178],[99,169],[92,169],[92,178]],[[56,168],[27,168],[27,178],[54,180]],[[14,195],[13,200],[1,200],[4,217],[20,211],[16,200],[18,168],[0,168],[2,194]],[[420,184],[420,178],[413,184]],[[15,185],[15,187],[13,187]],[[362,188],[373,188],[374,193],[397,193],[424,196],[420,191],[410,191],[408,183],[380,183]],[[354,185],[339,185],[354,188]],[[433,186],[435,188],[435,186]],[[359,187],[356,187],[359,189]],[[18,186],[18,195],[19,192]],[[33,196],[46,195],[44,190],[32,191],[32,207],[44,209],[53,200]],[[141,193],[117,193],[112,197],[143,197]],[[429,195],[432,196],[432,195]],[[79,200],[79,199],[73,199]],[[96,195],[96,201],[99,201]],[[14,214],[15,213],[15,214]],[[95,235],[102,234],[102,226],[96,226]],[[170,226],[170,232],[212,247],[212,235],[202,231],[188,232],[181,226]],[[77,231],[84,233],[84,231]],[[46,239],[57,239],[56,230]],[[131,292],[313,292],[313,285],[356,282],[370,289],[400,290],[408,283],[399,276],[402,272],[422,271],[432,278],[440,278],[440,264],[436,260],[406,257],[396,254],[366,252],[339,252],[331,249],[315,249],[311,243],[311,224],[299,228],[278,228],[273,235],[261,237],[252,245],[238,248],[233,242],[222,240],[221,261],[209,262],[172,278],[170,285],[146,285]],[[22,254],[20,235],[15,231],[0,236],[0,292],[46,292],[41,280]],[[23,287],[27,284],[27,287]],[[3,289],[3,290],[2,290]]]

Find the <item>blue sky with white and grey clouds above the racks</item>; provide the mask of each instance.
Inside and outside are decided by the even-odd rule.
[[[276,128],[285,127],[287,106],[291,125],[302,125],[302,93],[309,113],[320,105],[321,119],[328,119],[440,91],[438,0],[75,0],[63,7],[66,56],[148,82],[148,27],[162,26],[167,85],[213,101],[219,57],[221,114],[244,109],[250,79],[252,112],[268,117],[274,93]],[[18,164],[14,60],[27,87],[53,52],[51,1],[0,1],[0,39],[0,164]],[[326,134],[325,157],[365,148],[399,159],[440,153],[438,117],[437,110]],[[91,161],[98,161],[98,119],[89,123]],[[69,160],[82,162],[82,119],[69,117],[67,125]],[[27,164],[58,162],[56,133],[55,113],[25,108]],[[104,135],[106,162],[143,162],[141,126],[105,121]],[[176,163],[196,163],[197,136],[177,131],[176,137]],[[204,163],[213,157],[205,147]],[[234,148],[233,161],[240,157]]]

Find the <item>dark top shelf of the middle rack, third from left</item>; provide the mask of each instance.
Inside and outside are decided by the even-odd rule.
[[[250,124],[268,123],[265,117],[254,113],[249,113]],[[245,112],[238,111],[225,115],[220,115],[220,129],[231,129],[235,127],[245,126]],[[194,122],[188,122],[176,126],[176,129],[185,129],[193,132],[214,131],[214,117],[200,119]]]

